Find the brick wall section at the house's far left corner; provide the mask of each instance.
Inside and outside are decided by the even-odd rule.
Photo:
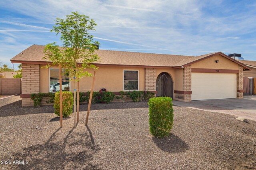
[[[39,64],[22,64],[22,94],[39,92]],[[34,106],[30,98],[22,98],[22,106]]]

